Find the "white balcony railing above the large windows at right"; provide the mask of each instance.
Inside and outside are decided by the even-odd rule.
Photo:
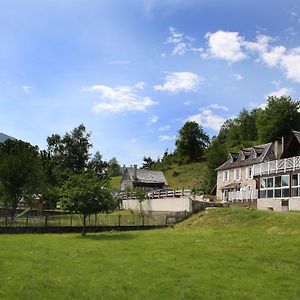
[[[253,165],[253,176],[270,175],[300,169],[300,156],[271,160]]]

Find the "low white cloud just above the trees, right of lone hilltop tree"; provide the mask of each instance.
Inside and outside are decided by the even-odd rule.
[[[214,114],[210,109],[205,109],[201,111],[199,114],[190,116],[188,121],[194,121],[199,123],[201,126],[205,128],[210,128],[215,131],[220,130],[221,126],[225,122],[225,118]]]

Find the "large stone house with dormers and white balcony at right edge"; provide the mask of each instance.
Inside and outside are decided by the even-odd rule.
[[[230,153],[217,168],[217,197],[224,202],[256,201],[258,209],[300,210],[300,132]]]

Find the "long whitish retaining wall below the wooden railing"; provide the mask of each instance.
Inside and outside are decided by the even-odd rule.
[[[144,211],[192,211],[192,200],[188,197],[181,198],[162,198],[144,200],[142,204],[138,200],[123,200],[123,209]]]

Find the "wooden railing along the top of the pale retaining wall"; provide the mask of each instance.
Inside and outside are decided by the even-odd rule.
[[[122,200],[137,199],[136,193],[120,193],[118,195]],[[191,190],[158,190],[154,192],[147,192],[145,197],[146,199],[162,199],[162,198],[180,198],[180,197],[190,197]]]

